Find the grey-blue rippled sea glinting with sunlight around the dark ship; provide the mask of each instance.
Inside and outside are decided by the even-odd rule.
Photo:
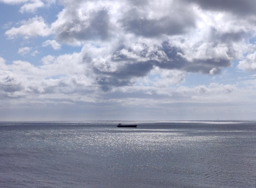
[[[0,122],[0,187],[256,187],[256,121],[118,123]]]

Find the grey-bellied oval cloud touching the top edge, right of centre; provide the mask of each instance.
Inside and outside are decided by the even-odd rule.
[[[144,37],[186,33],[195,27],[196,15],[193,10],[180,7],[179,2],[173,2],[148,3],[143,9],[130,7],[120,22],[125,31]]]

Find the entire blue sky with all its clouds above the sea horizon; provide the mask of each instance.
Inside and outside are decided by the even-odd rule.
[[[255,0],[0,0],[0,120],[254,120]]]

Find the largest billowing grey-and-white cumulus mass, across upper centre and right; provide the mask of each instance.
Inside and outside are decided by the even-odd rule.
[[[219,74],[241,57],[244,37],[253,28],[247,20],[224,13],[228,6],[213,4],[212,12],[201,1],[98,0],[72,2],[73,6],[61,2],[65,8],[52,31],[66,44],[97,43],[97,58],[90,53],[83,56],[105,90],[133,84],[133,78],[145,77],[155,67]]]

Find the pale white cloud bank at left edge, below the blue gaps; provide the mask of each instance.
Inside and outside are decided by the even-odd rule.
[[[47,56],[42,59],[42,66],[20,60],[6,65],[0,58],[0,94],[7,98],[25,98],[34,94],[56,94],[52,97],[59,98],[61,94],[67,94],[65,98],[69,98],[68,94],[95,90],[90,67],[77,61],[78,55]]]

